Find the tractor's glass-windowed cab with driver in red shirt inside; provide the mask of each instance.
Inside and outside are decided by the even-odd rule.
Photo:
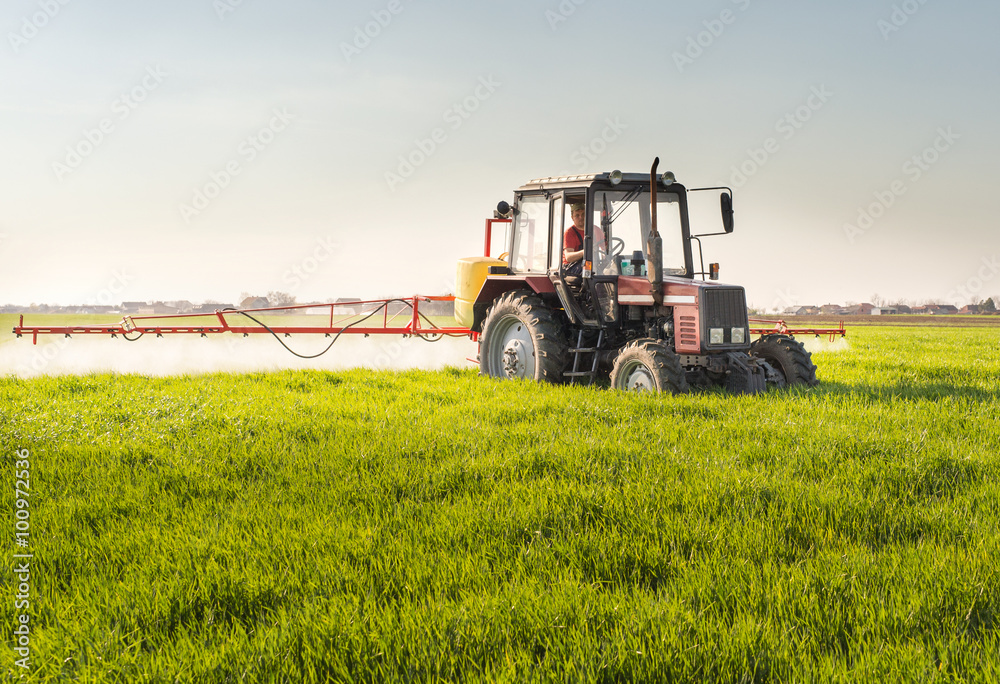
[[[657,181],[655,199],[648,175],[618,171],[540,178],[518,188],[513,205],[498,208],[511,221],[507,273],[548,280],[574,325],[617,326],[621,285],[649,290],[654,272],[688,280],[696,274],[688,191],[673,174]],[[654,230],[662,236],[659,255],[649,252]],[[651,266],[660,259],[662,267]]]

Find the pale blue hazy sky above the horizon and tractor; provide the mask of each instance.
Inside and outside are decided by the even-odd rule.
[[[757,307],[1000,295],[997,25],[971,0],[7,0],[0,304],[446,294],[518,186],[657,156],[733,188],[706,261]]]

